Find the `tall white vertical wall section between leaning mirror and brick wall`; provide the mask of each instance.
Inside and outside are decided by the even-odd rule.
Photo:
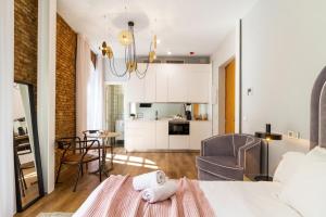
[[[57,0],[38,0],[37,120],[45,191],[54,190]]]

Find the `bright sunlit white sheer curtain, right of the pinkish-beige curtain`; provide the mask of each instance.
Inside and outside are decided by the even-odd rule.
[[[90,76],[87,86],[87,127],[88,129],[103,128],[103,106],[104,106],[104,73],[103,59],[98,55],[96,68],[90,64]]]

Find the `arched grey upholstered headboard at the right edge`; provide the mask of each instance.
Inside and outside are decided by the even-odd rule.
[[[310,149],[326,148],[326,67],[315,80],[311,94]]]

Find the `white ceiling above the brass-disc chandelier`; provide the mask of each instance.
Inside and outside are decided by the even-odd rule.
[[[102,40],[116,55],[118,33],[135,22],[138,54],[147,54],[154,34],[158,54],[211,55],[258,0],[58,0],[59,14],[85,35],[93,51]]]

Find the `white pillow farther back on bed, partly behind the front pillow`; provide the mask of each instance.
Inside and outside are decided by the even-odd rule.
[[[285,153],[275,170],[273,181],[287,182],[298,170],[304,158],[305,154],[301,152]]]

